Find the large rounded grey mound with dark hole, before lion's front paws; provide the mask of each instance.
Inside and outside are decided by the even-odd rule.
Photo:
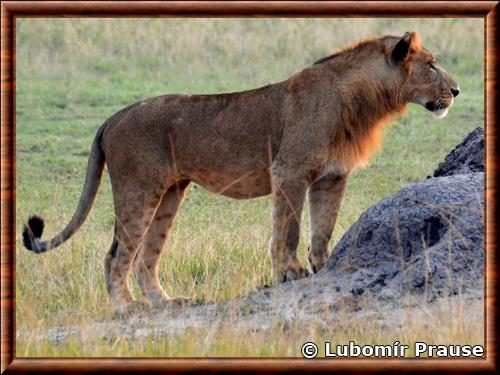
[[[482,292],[483,186],[484,173],[457,174],[382,199],[341,238],[318,276],[353,296]]]

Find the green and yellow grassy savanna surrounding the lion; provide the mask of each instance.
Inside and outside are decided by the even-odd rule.
[[[410,105],[368,168],[356,171],[330,244],[362,211],[432,174],[466,134],[483,124],[482,19],[20,19],[16,39],[17,356],[297,356],[300,343],[335,336],[358,344],[482,343],[481,304],[452,317],[408,319],[404,327],[370,321],[318,331],[282,327],[240,334],[187,330],[162,339],[69,341],[37,334],[112,314],[103,259],[114,217],[105,175],[90,217],[66,244],[43,256],[22,248],[23,222],[46,219],[48,238],[78,202],[87,157],[104,120],[140,99],[165,93],[240,91],[284,80],[336,48],[372,35],[420,33],[459,82],[449,115],[436,120]],[[234,201],[192,186],[177,218],[160,277],[171,296],[222,301],[271,283],[270,198]],[[307,207],[299,257],[307,264]],[[135,282],[132,287],[139,296]],[[481,313],[478,313],[481,311]],[[430,314],[435,316],[434,313]],[[446,318],[446,319],[444,319]],[[307,329],[305,329],[307,328]]]

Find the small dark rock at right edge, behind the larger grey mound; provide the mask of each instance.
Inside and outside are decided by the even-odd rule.
[[[484,172],[484,130],[473,130],[446,156],[434,171],[434,177]]]

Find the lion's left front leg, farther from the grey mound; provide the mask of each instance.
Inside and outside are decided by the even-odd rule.
[[[275,283],[304,278],[308,275],[297,260],[300,216],[307,182],[276,178],[273,186],[273,234],[271,260]]]

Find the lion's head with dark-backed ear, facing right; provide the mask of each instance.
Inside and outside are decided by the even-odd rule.
[[[419,104],[436,117],[446,116],[460,89],[434,55],[422,47],[418,35],[407,32],[392,46],[390,55],[403,74],[403,101]]]

